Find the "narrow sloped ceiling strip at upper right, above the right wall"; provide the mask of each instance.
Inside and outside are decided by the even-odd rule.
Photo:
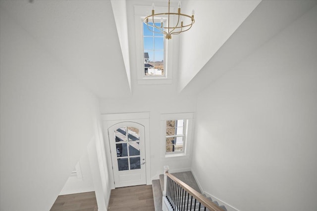
[[[262,1],[179,92],[197,94],[306,13],[317,1]],[[269,15],[268,15],[269,14]]]

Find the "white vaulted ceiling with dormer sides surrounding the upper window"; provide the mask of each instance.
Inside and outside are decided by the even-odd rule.
[[[135,5],[152,2],[166,6],[166,0],[5,0],[1,7],[85,87],[99,97],[115,98],[150,87],[152,92],[195,94],[312,4],[294,1],[285,8],[283,1],[183,1],[183,11],[196,10],[196,23],[176,39],[176,77],[169,85],[139,85],[133,11]]]

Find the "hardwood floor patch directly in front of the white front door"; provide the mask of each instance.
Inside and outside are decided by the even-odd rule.
[[[111,190],[108,211],[154,211],[152,185]]]

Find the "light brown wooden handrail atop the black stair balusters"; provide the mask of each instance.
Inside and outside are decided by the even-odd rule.
[[[190,193],[193,196],[193,198],[197,199],[201,204],[203,204],[210,211],[224,211],[219,206],[213,204],[203,194],[199,193],[198,191],[196,191],[195,189],[193,189],[192,187],[184,183],[182,180],[178,179],[177,177],[175,177],[174,175],[168,172],[165,172],[165,173],[169,178],[171,178],[172,180],[174,180],[174,182],[176,182],[178,185],[184,188],[188,193]]]

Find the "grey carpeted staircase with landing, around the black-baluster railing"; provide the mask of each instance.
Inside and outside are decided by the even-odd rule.
[[[185,171],[185,172],[178,172],[178,173],[172,173],[175,177],[178,179],[182,180],[184,183],[198,191],[199,193],[202,193],[201,190],[198,187],[198,184],[192,174],[191,171]],[[159,179],[152,180],[152,188],[153,188],[153,198],[154,198],[154,206],[155,206],[155,211],[162,211],[162,196],[163,196],[163,189],[164,189],[164,175],[160,174]],[[206,195],[203,194],[205,197]],[[219,206],[217,201],[212,201],[211,197],[207,197],[212,203],[215,205]],[[190,203],[188,200],[188,197],[184,196],[181,200],[184,202]],[[185,204],[186,204],[185,203]],[[187,203],[187,204],[188,204]],[[190,207],[190,206],[187,206]],[[222,210],[227,211],[227,209],[221,205],[219,206]],[[199,203],[197,202],[196,205],[192,203],[191,206],[192,209],[190,211],[205,211],[205,208],[200,208]],[[185,209],[184,209],[185,210]],[[206,209],[206,211],[209,211]]]

